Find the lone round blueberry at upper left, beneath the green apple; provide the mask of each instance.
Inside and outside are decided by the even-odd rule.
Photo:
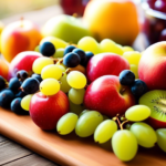
[[[51,42],[43,42],[40,45],[40,53],[44,56],[52,56],[55,53],[55,46]]]

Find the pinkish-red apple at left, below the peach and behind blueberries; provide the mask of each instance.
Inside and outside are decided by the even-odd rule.
[[[17,76],[20,70],[27,71],[30,75],[32,73],[32,64],[35,59],[42,56],[41,53],[35,51],[24,51],[19,53],[10,63],[8,79]]]

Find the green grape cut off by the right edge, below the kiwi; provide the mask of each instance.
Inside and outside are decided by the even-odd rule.
[[[159,128],[156,131],[157,144],[166,153],[166,128]]]

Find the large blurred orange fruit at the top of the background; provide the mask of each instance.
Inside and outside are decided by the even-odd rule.
[[[132,0],[92,0],[83,20],[98,41],[108,38],[131,45],[139,32],[137,9]]]

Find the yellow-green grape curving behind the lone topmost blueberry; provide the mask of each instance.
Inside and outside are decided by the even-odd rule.
[[[40,44],[45,41],[53,43],[56,49],[61,49],[61,48],[64,49],[66,45],[69,45],[65,41],[55,37],[45,37],[44,39],[41,40]]]

